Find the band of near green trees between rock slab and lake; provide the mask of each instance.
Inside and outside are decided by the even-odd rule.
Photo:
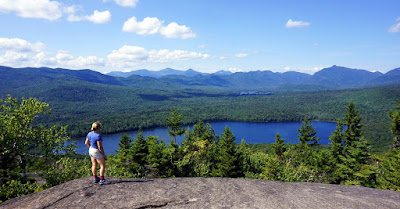
[[[219,137],[201,120],[193,130],[184,130],[185,115],[172,108],[163,120],[171,137],[184,134],[182,144],[166,144],[141,132],[135,138],[123,135],[117,154],[108,156],[106,176],[259,178],[400,191],[400,99],[395,103],[387,112],[392,146],[379,154],[371,153],[362,131],[364,117],[353,101],[342,107],[330,145],[318,144],[312,121],[304,117],[298,144],[287,144],[276,134],[267,149],[251,148],[245,140],[237,144],[229,127]],[[0,105],[0,201],[91,175],[89,157],[76,154],[73,145],[65,147],[66,127],[32,125],[49,113],[48,104],[8,96]],[[46,183],[38,184],[26,175],[30,172],[40,172]]]

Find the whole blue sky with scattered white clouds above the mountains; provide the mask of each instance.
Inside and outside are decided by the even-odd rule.
[[[0,0],[0,65],[385,73],[400,67],[400,1]]]

